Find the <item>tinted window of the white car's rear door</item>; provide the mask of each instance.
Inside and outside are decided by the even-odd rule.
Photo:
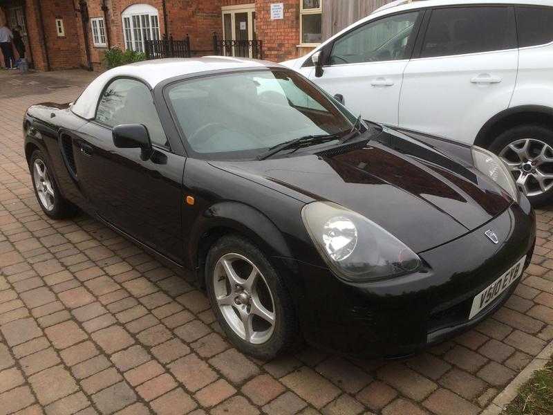
[[[516,31],[510,8],[440,8],[432,12],[420,56],[462,55],[512,48],[516,48]]]

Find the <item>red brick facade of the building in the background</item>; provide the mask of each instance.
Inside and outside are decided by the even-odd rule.
[[[41,2],[46,32],[46,42],[41,35],[37,2]],[[174,39],[184,39],[188,34],[192,50],[198,55],[212,53],[212,35],[222,36],[222,6],[255,3],[258,39],[263,40],[265,59],[279,62],[298,56],[299,0],[279,0],[284,3],[284,19],[270,20],[270,3],[277,0],[167,0],[169,33]],[[102,0],[88,0],[88,16],[103,17]],[[110,46],[124,49],[121,13],[135,3],[147,3],[158,10],[160,33],[165,33],[162,0],[106,0]],[[35,67],[46,69],[45,45],[50,57],[50,68],[75,68],[86,66],[86,49],[79,8],[79,0],[27,0],[26,15],[28,39]],[[65,36],[57,37],[55,19],[64,20]],[[102,68],[105,48],[93,45],[90,22],[86,25],[88,48],[95,69]]]

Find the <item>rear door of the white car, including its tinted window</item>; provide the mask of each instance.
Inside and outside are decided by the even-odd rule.
[[[513,8],[433,10],[420,57],[404,72],[400,127],[472,144],[509,107],[517,62]]]

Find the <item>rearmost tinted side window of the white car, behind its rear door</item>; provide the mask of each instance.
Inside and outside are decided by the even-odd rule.
[[[516,25],[521,48],[553,42],[553,8],[517,7]]]

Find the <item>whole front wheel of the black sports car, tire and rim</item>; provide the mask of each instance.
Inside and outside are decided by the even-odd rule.
[[[231,288],[225,264],[236,273],[232,277],[235,282],[244,282],[241,288]],[[250,279],[254,267],[258,275]],[[251,287],[249,281],[254,281]],[[205,286],[219,324],[243,353],[268,360],[299,347],[298,322],[290,294],[267,257],[247,239],[226,235],[212,246],[207,253]],[[254,308],[254,304],[261,304],[265,315],[272,312],[272,325],[259,317],[259,305]],[[243,323],[244,317],[250,321],[248,316],[252,316],[251,326],[248,324],[250,340]]]

